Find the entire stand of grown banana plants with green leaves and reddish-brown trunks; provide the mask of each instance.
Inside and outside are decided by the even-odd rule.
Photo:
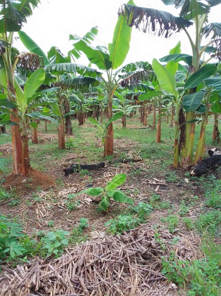
[[[65,149],[65,133],[72,133],[71,116],[78,118],[79,125],[89,116],[102,133],[104,155],[112,155],[113,121],[122,118],[125,128],[127,116],[140,108],[141,120],[146,125],[147,112],[152,109],[153,129],[157,122],[156,142],[161,142],[162,116],[170,116],[170,125],[174,124],[173,164],[176,168],[202,159],[211,113],[215,118],[212,140],[220,141],[221,24],[208,23],[208,15],[211,7],[221,0],[161,1],[179,8],[179,17],[137,7],[130,0],[118,10],[113,40],[107,47],[91,45],[98,33],[94,27],[84,37],[69,36],[72,46],[67,55],[55,46],[44,53],[21,30],[39,0],[2,1],[0,126],[2,130],[7,124],[12,128],[14,174],[28,174],[28,128],[33,128],[37,142],[40,119],[45,120],[46,125],[48,120],[58,124],[59,148]],[[192,26],[195,26],[194,37],[189,33]],[[130,48],[133,27],[165,38],[183,30],[184,42],[190,42],[192,54],[181,53],[179,42],[159,61],[153,59],[122,66]],[[14,33],[27,52],[19,53],[13,47]],[[94,68],[76,63],[82,53]],[[193,157],[196,123],[200,123],[201,131]]]

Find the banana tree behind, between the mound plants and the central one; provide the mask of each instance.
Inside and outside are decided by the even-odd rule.
[[[96,35],[97,30],[94,28],[83,37],[83,40],[93,40]],[[58,108],[56,108],[56,115],[60,118],[58,124],[58,141],[59,141],[59,149],[65,149],[65,115],[64,115],[64,96],[62,94],[62,89],[67,89],[67,87],[71,87],[72,89],[81,89],[86,90],[89,89],[89,85],[91,83],[96,82],[96,77],[100,74],[99,71],[87,67],[84,65],[71,63],[71,56],[76,54],[75,50],[72,50],[68,53],[68,57],[65,57],[60,50],[52,46],[47,55],[40,49],[40,47],[23,31],[18,32],[20,40],[26,46],[26,48],[35,54],[41,56],[44,61],[45,71],[46,73],[50,73],[50,75],[46,75],[47,80],[45,84],[51,84],[53,87],[59,87],[56,92]],[[78,73],[81,76],[76,76]],[[75,74],[74,77],[69,77],[68,74]],[[82,77],[84,76],[84,77]],[[48,78],[49,77],[49,78]]]

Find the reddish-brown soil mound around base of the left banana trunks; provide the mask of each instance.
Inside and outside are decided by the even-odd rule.
[[[43,174],[39,170],[30,168],[28,176],[23,176],[22,174],[10,174],[7,176],[3,186],[5,188],[16,187],[17,191],[29,193],[32,192],[34,188],[39,186],[41,189],[55,186],[55,180],[50,176]]]

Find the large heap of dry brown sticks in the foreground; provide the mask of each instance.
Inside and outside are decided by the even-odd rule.
[[[167,230],[155,231],[146,224],[123,235],[86,242],[60,258],[34,260],[12,270],[3,268],[0,275],[1,296],[103,296],[153,295],[168,289],[161,274],[162,256],[174,250],[177,258],[191,260],[197,255],[192,242]],[[162,246],[163,245],[163,249]],[[154,294],[155,295],[155,294]],[[157,295],[164,295],[157,294]]]

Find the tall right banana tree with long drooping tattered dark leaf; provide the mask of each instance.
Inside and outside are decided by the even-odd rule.
[[[191,44],[192,56],[188,54],[170,54],[161,59],[161,62],[180,61],[184,60],[189,65],[189,73],[193,75],[202,69],[202,80],[208,78],[211,72],[204,68],[207,63],[213,58],[221,56],[220,47],[220,23],[209,23],[208,15],[210,8],[221,3],[221,0],[162,0],[166,5],[174,5],[179,7],[179,17],[174,17],[168,12],[159,11],[156,9],[136,7],[130,4],[124,4],[119,13],[127,17],[127,24],[140,28],[142,26],[143,32],[152,31],[158,36],[165,36],[166,38],[174,32],[184,30],[187,38]],[[206,3],[205,3],[206,2]],[[195,41],[191,38],[187,28],[195,25]],[[201,46],[203,38],[210,37],[205,46]],[[212,53],[205,62],[201,62],[201,57],[204,52]],[[199,75],[200,76],[200,75]],[[200,81],[200,83],[202,82]],[[187,94],[196,92],[196,86],[189,85],[186,89]],[[186,114],[186,139],[182,153],[182,163],[184,165],[192,162],[193,158],[193,143],[194,143],[194,111]]]

